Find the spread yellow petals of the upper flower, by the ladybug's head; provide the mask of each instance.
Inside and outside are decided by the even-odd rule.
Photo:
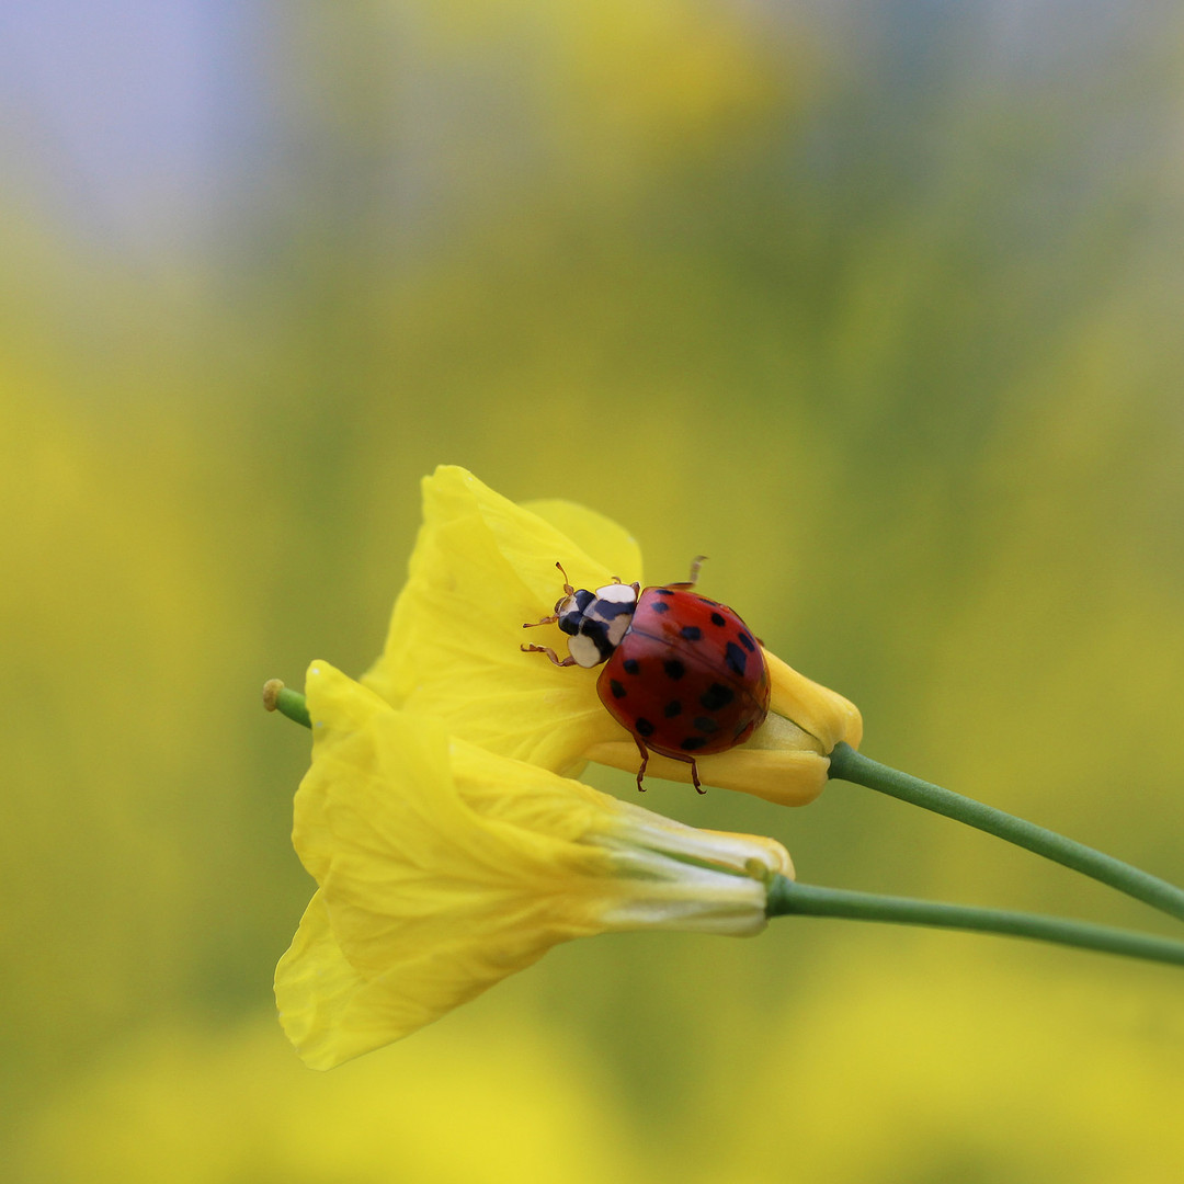
[[[562,519],[556,506],[545,508]],[[616,559],[629,559],[619,528],[597,526],[591,511],[566,519],[593,542],[607,540]],[[491,752],[578,773],[588,739],[617,727],[597,699],[596,671],[561,670],[521,651],[523,642],[558,644],[554,630],[522,628],[549,614],[562,594],[556,561],[583,587],[614,574],[465,470],[437,469],[424,481],[424,525],[386,649],[362,681],[388,703],[443,720]]]

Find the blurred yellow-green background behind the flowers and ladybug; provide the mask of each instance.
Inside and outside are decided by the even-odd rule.
[[[258,703],[366,669],[459,463],[1184,880],[1178,6],[8,2],[0,146],[6,1178],[1180,1179],[1179,971],[1002,939],[599,938],[304,1069]],[[646,804],[1173,932],[854,786]]]

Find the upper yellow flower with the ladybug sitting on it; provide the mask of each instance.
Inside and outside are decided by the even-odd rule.
[[[637,542],[607,519],[571,502],[516,506],[464,469],[442,465],[424,480],[410,578],[386,649],[362,682],[504,757],[572,777],[588,760],[636,771],[636,744],[597,696],[599,671],[558,669],[519,649],[523,622],[551,613],[560,596],[556,560],[577,587],[642,579]],[[543,644],[559,646],[564,635],[552,629]],[[765,658],[767,720],[744,745],[699,758],[699,773],[707,785],[802,805],[822,791],[835,745],[858,745],[862,721],[841,695]],[[648,772],[690,780],[689,765],[657,753]]]

